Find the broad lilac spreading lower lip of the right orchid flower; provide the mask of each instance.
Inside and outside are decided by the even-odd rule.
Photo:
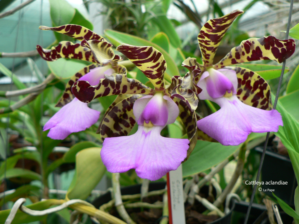
[[[221,109],[197,121],[197,127],[222,145],[239,145],[251,132],[277,132],[279,125],[283,125],[278,111],[248,106],[236,95],[214,99],[214,102]]]

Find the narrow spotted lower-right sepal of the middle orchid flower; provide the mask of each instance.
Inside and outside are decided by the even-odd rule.
[[[189,149],[187,151],[187,157],[184,160],[186,161],[189,158],[197,142],[196,113],[195,111],[190,111],[189,107],[187,107],[186,103],[182,100],[174,98],[173,101],[179,106],[179,117],[181,118],[181,121],[185,126],[187,137],[190,141]]]

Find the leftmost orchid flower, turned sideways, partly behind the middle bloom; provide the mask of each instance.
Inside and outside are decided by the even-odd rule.
[[[126,74],[126,68],[118,65],[121,60],[111,49],[112,44],[103,37],[93,33],[85,27],[78,25],[64,25],[60,27],[39,27],[42,30],[54,30],[82,41],[81,44],[62,41],[50,50],[37,45],[37,50],[43,59],[54,61],[59,58],[81,59],[97,64],[91,64],[78,71],[66,85],[58,107],[62,107],[45,124],[44,131],[50,129],[48,137],[52,139],[65,139],[69,134],[84,131],[99,119],[100,112],[88,107],[87,103],[79,101],[71,92],[71,87],[78,80],[85,80],[97,85],[105,75],[113,73]],[[96,46],[96,47],[94,47]],[[96,49],[95,53],[93,50]],[[88,116],[86,116],[88,114]]]

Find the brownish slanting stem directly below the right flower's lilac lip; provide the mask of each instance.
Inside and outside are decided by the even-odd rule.
[[[228,183],[228,185],[226,185],[225,189],[222,191],[220,196],[213,203],[213,205],[215,205],[216,207],[219,207],[220,205],[223,204],[223,202],[225,201],[226,196],[231,192],[231,190],[233,189],[234,185],[236,184],[239,176],[242,174],[242,171],[243,171],[243,168],[244,168],[246,146],[247,146],[247,143],[245,142],[245,143],[242,144],[242,146],[240,148],[239,158],[238,158],[238,162],[237,162],[237,166],[236,166],[236,169],[234,171],[234,174],[231,177],[231,180]]]

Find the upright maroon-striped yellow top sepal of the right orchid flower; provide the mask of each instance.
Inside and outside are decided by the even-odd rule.
[[[205,67],[213,65],[213,59],[222,37],[228,27],[234,22],[234,19],[242,13],[244,12],[241,10],[234,10],[220,18],[210,19],[202,27],[197,39],[202,53],[202,62]]]

